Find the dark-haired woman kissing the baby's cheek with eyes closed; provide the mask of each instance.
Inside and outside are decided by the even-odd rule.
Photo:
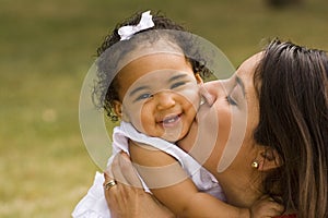
[[[211,155],[203,159],[190,154],[220,181],[229,204],[249,207],[270,195],[284,205],[285,215],[328,217],[327,77],[324,51],[273,40],[230,80],[206,85],[214,100],[202,106],[199,122],[179,146],[188,152],[206,147],[213,125],[219,125]],[[219,124],[211,122],[213,117]],[[242,144],[236,146],[233,138],[239,133]],[[136,184],[129,162],[122,160],[114,164],[114,178]],[[105,179],[110,180],[108,174]],[[105,195],[117,217],[173,216],[137,187],[118,183]]]

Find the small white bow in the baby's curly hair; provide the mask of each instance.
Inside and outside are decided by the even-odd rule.
[[[133,36],[133,34],[153,27],[155,24],[152,17],[153,16],[150,14],[150,11],[147,11],[142,13],[141,20],[138,25],[120,27],[118,29],[120,40],[128,40]]]

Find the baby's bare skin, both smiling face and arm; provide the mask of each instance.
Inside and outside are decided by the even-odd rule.
[[[195,120],[200,104],[197,82],[200,81],[184,56],[156,53],[141,57],[118,74],[121,100],[116,101],[116,111],[140,132],[176,142],[188,133]],[[175,214],[201,217],[203,213],[199,213],[199,208],[207,205],[209,216],[218,210],[249,217],[248,209],[234,208],[199,192],[178,161],[168,154],[132,141],[129,141],[129,152],[154,196]]]

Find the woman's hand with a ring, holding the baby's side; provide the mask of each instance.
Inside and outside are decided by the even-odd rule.
[[[129,159],[120,153],[104,172],[104,192],[113,218],[175,217],[165,206],[142,189],[141,181]],[[115,179],[114,186],[106,184]]]

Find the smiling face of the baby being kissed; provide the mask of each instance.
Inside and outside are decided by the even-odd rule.
[[[120,100],[114,108],[138,131],[176,142],[187,134],[196,117],[200,82],[183,55],[144,56],[119,72]]]

